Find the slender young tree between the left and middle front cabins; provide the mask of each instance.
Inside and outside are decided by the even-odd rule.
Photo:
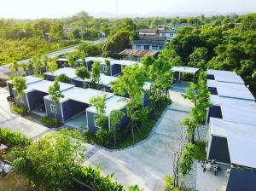
[[[55,82],[52,86],[49,86],[48,90],[49,98],[55,103],[55,124],[57,124],[57,106],[60,104],[60,100],[63,97],[61,95],[61,86],[58,79],[55,79]]]

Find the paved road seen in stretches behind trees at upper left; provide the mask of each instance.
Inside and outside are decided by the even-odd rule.
[[[105,41],[106,39],[102,39],[102,40],[96,40],[96,41],[92,41],[91,43],[93,44],[97,44],[97,43],[102,43],[103,41]],[[67,49],[60,49],[54,52],[49,53],[49,57],[55,57],[57,55],[63,55],[63,54],[67,54],[69,52],[73,52],[75,49],[77,49],[78,45],[73,46],[73,47],[69,47]],[[21,61],[18,61],[19,63],[24,63],[29,61],[30,59],[24,59]],[[11,63],[0,66],[0,78],[9,78],[9,74],[10,74],[10,70],[9,70],[9,66]]]

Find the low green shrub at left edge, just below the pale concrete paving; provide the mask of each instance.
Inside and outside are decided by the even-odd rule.
[[[10,148],[26,147],[31,144],[32,139],[21,135],[20,131],[11,131],[6,128],[0,128],[0,142],[9,146]]]

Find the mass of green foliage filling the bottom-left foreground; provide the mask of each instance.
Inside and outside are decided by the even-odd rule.
[[[0,128],[0,142],[12,148],[7,156],[13,172],[8,176],[17,181],[7,185],[7,189],[78,190],[85,185],[99,191],[125,191],[113,181],[113,175],[103,176],[98,167],[83,165],[86,148],[80,140],[78,131],[61,130],[32,142],[19,132]],[[141,189],[132,186],[128,190]]]

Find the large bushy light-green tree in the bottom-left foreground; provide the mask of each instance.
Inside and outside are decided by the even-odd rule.
[[[26,177],[28,190],[66,190],[74,186],[71,177],[80,171],[85,149],[79,131],[62,129],[41,137],[26,149],[14,149],[12,166]]]

